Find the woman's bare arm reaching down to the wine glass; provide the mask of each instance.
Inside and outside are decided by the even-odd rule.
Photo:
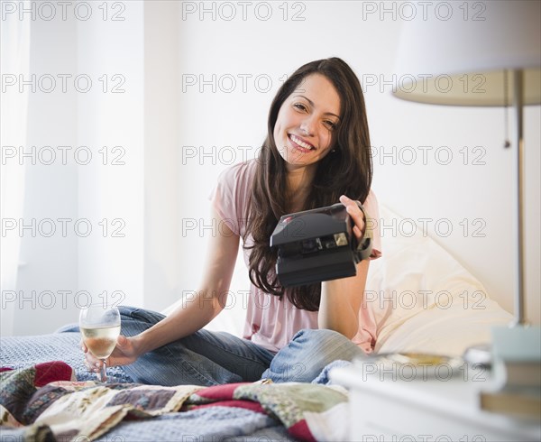
[[[196,298],[187,301],[186,305],[179,306],[170,316],[141,334],[132,337],[120,336],[115,351],[109,358],[110,366],[132,364],[140,355],[205,327],[222,311],[233,276],[239,236],[231,231],[215,210],[212,216],[216,220],[214,226],[222,224],[208,244],[206,270]],[[96,367],[101,365],[87,352],[84,345],[83,350],[87,354],[88,364]]]

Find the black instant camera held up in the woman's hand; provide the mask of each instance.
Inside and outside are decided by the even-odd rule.
[[[342,203],[280,217],[271,235],[278,248],[276,274],[283,287],[346,278],[371,254],[371,228],[361,203],[365,234],[358,242]]]

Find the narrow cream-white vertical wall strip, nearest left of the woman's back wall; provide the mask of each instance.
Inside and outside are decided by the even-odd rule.
[[[144,5],[144,303],[160,310],[178,299],[179,53],[176,2]]]

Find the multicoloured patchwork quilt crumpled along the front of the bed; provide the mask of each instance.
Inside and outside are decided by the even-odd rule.
[[[0,369],[6,441],[343,440],[346,402],[344,389],[318,383],[163,387],[77,381],[62,361]]]

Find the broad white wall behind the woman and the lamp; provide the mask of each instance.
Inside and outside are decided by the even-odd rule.
[[[428,19],[443,16],[445,5],[436,10],[440,3],[426,6]],[[232,149],[237,159],[243,159],[245,152],[253,156],[257,150],[280,78],[309,60],[339,56],[353,67],[365,89],[375,153],[373,189],[381,203],[408,218],[407,223],[388,226],[384,239],[397,231],[407,234],[410,221],[416,222],[417,228],[434,236],[481,280],[491,298],[512,311],[515,168],[513,150],[502,147],[503,109],[422,106],[391,97],[394,80],[399,79],[393,78],[393,70],[401,17],[408,14],[400,2],[291,2],[287,8],[282,3],[268,8],[254,2],[246,9],[234,5],[211,3],[204,9],[198,2],[184,2],[180,11],[184,92],[179,95],[179,175],[184,188],[190,189],[181,193],[181,207],[190,207],[189,216],[205,216],[203,207],[196,208],[197,201],[212,188]],[[446,5],[452,5],[452,14],[465,14],[462,3]],[[468,7],[468,19],[480,12],[472,4]],[[271,79],[268,91],[264,91],[266,78]],[[539,109],[528,107],[525,122],[527,317],[536,323],[540,310]],[[193,146],[198,148],[195,158]],[[197,192],[191,187],[194,182]],[[185,235],[181,249],[197,252],[181,255],[181,268],[201,262],[203,253],[197,247],[199,235],[195,231]],[[243,281],[245,273],[240,273],[235,290],[244,289]],[[190,279],[188,284],[197,280]],[[186,282],[181,286],[187,286]]]

